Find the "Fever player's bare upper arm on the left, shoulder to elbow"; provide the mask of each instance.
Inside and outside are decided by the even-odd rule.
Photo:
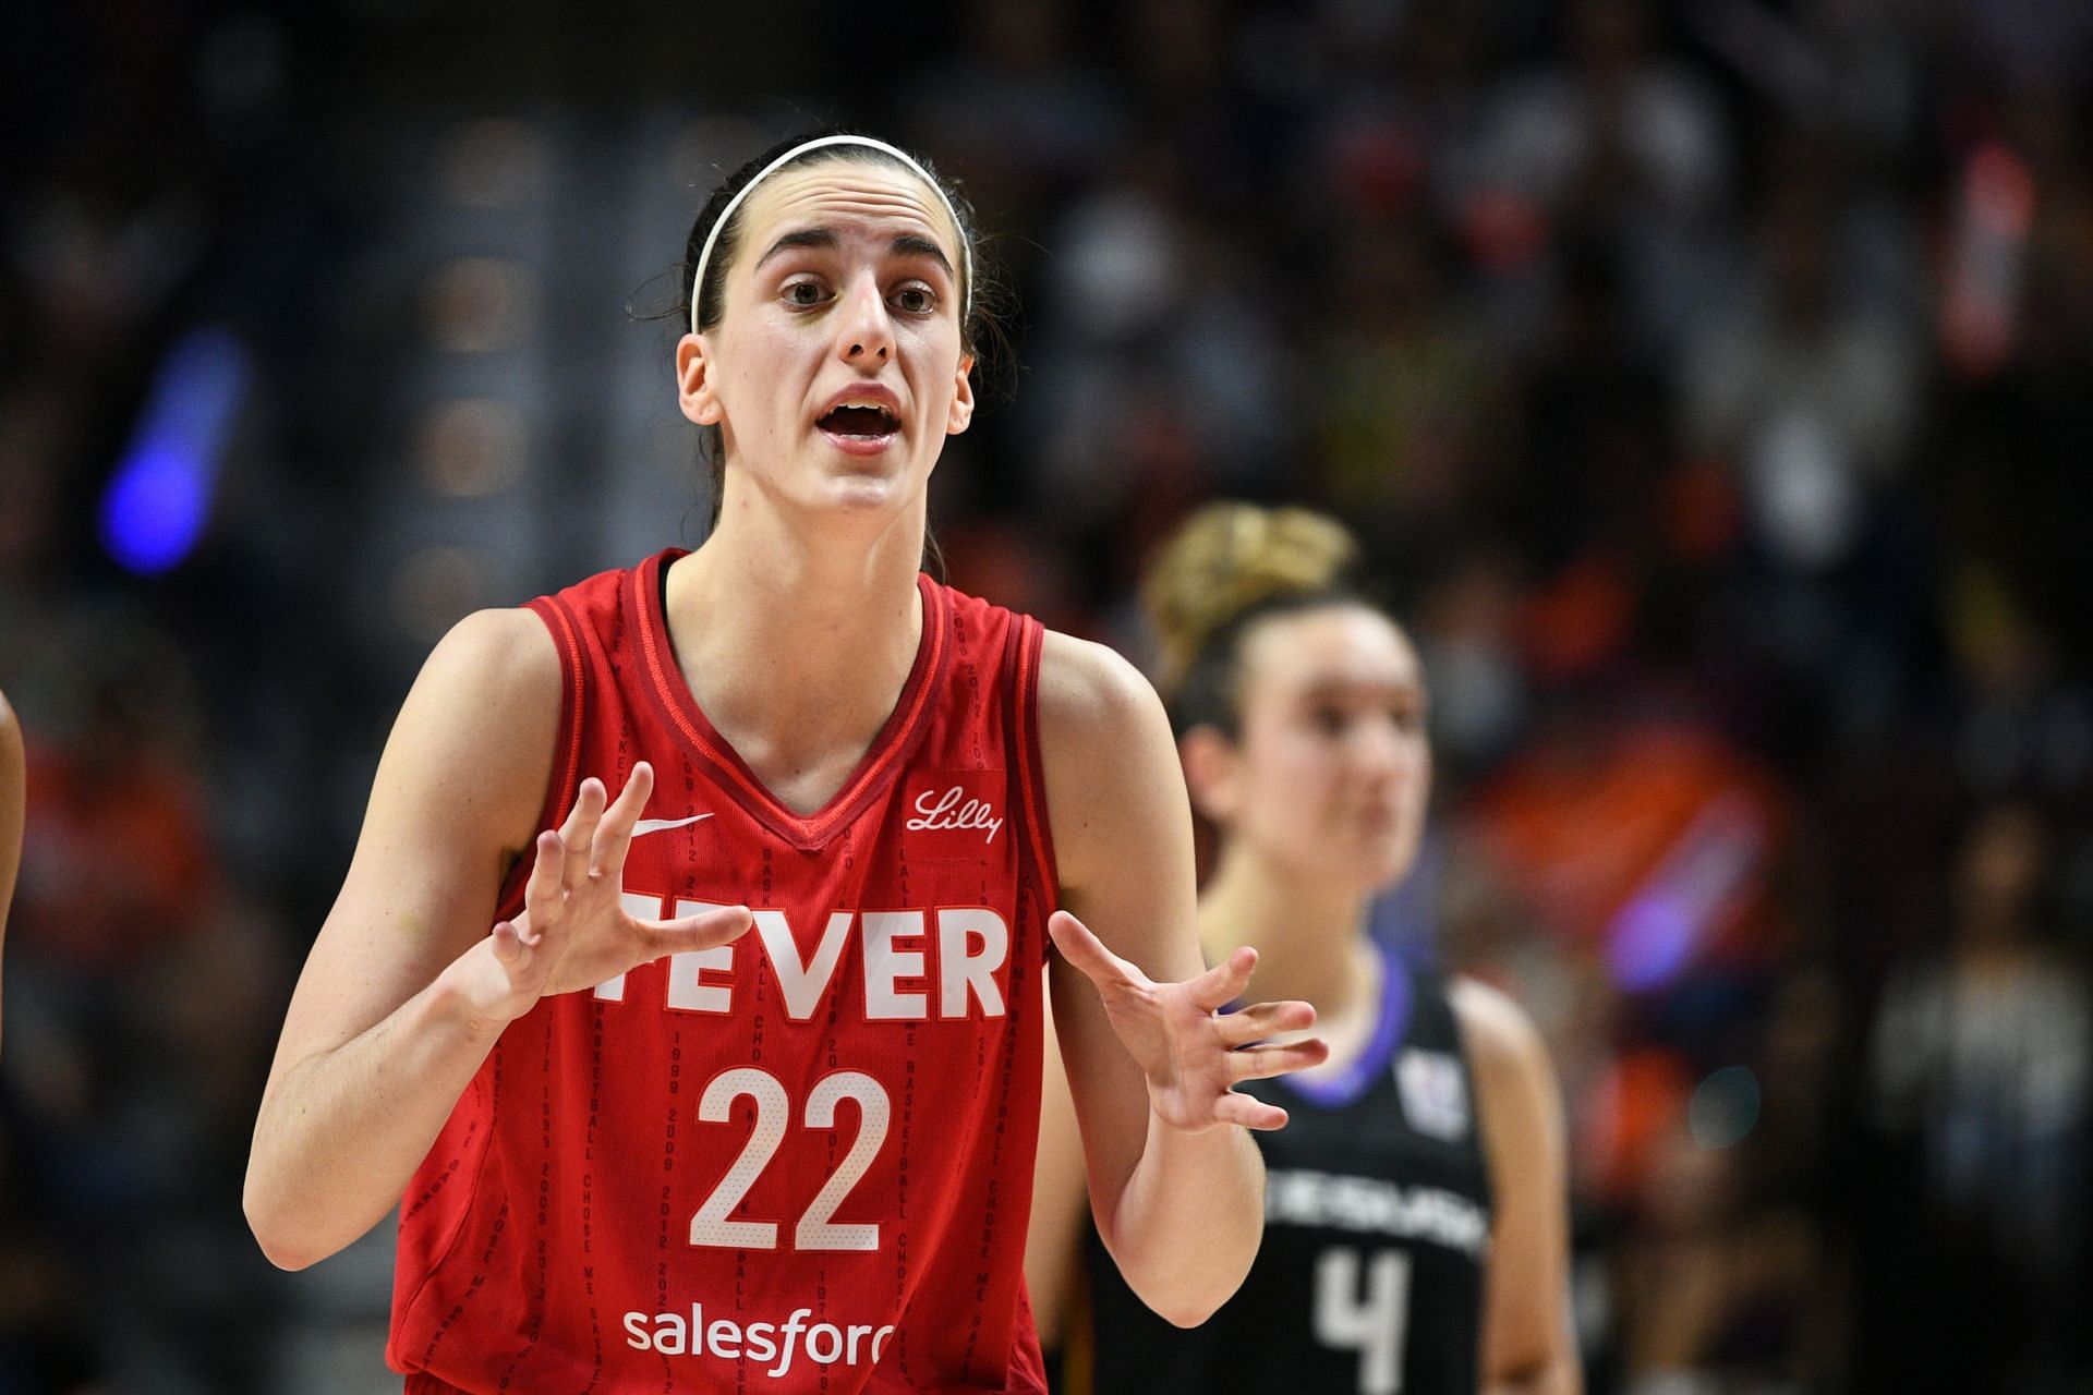
[[[559,703],[559,650],[530,611],[479,611],[435,646],[379,759],[270,1088],[383,1021],[488,933],[536,832]]]

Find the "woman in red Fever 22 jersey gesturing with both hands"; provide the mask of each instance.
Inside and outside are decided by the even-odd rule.
[[[1231,1085],[1321,1060],[1252,1046],[1312,1010],[1216,1012],[1256,956],[1201,968],[1147,684],[919,575],[973,412],[957,199],[800,142],[714,195],[687,274],[714,531],[431,655],[247,1215],[297,1267],[400,1205],[410,1393],[1042,1391],[1042,977],[1105,1242],[1180,1324],[1256,1253],[1239,1125],[1285,1121]]]

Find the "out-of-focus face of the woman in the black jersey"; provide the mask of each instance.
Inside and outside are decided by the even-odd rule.
[[[1216,749],[1203,809],[1233,839],[1373,891],[1417,855],[1432,788],[1417,653],[1381,613],[1275,615],[1241,642],[1241,740]]]

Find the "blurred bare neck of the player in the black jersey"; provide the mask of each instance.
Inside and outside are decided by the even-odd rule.
[[[1283,868],[1231,839],[1199,895],[1199,937],[1214,962],[1258,947],[1254,998],[1302,998],[1337,1019],[1365,1006],[1377,981],[1369,904],[1367,889]]]

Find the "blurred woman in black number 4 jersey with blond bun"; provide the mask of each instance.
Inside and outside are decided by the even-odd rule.
[[[1417,855],[1425,690],[1396,623],[1348,590],[1350,535],[1216,504],[1149,571],[1193,803],[1220,832],[1199,895],[1210,958],[1256,941],[1260,993],[1306,998],[1329,1062],[1245,1090],[1264,1244],[1241,1290],[1178,1330],[1082,1219],[1049,1081],[1028,1278],[1067,1395],[1574,1395],[1563,1127],[1547,1050],[1501,993],[1402,966],[1367,931]],[[1070,1303],[1070,1293],[1088,1303]]]

